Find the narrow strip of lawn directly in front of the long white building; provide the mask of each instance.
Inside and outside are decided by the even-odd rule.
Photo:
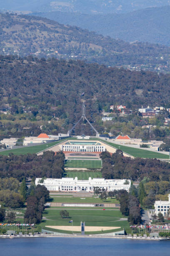
[[[95,198],[95,197],[82,197],[85,199],[80,199],[81,197],[57,197],[52,196],[50,197],[52,199],[51,202],[65,202],[65,203],[108,203],[108,204],[118,204],[119,201],[117,201],[115,198],[110,198],[108,197],[106,201],[102,201],[100,198]]]

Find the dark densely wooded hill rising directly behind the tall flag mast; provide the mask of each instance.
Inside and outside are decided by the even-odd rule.
[[[92,123],[100,121],[102,108],[109,109],[111,104],[135,109],[141,105],[165,106],[170,99],[170,74],[107,68],[83,61],[0,56],[0,77],[1,108],[8,103],[15,114],[24,105],[39,118],[55,115],[65,119],[66,130],[81,116],[83,91],[86,115]]]

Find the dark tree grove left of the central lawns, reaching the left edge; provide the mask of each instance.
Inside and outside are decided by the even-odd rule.
[[[0,188],[16,190],[18,188],[16,179],[21,182],[28,177],[61,178],[64,173],[64,159],[65,155],[62,151],[56,154],[53,151],[46,151],[42,156],[36,154],[0,156],[0,177],[4,178],[0,179]]]

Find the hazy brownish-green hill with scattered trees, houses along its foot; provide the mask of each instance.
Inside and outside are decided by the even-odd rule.
[[[126,43],[27,15],[0,14],[0,54],[83,59],[107,66],[170,71],[170,48]]]

